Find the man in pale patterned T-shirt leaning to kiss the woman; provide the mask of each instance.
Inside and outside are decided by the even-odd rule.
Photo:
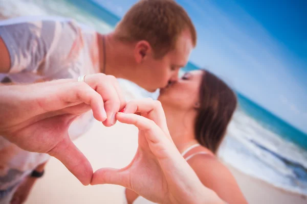
[[[7,73],[3,82],[12,83],[104,73],[155,91],[177,80],[178,71],[187,63],[195,44],[196,32],[190,18],[171,0],[138,2],[108,35],[68,19],[22,17],[0,23],[0,73]],[[118,87],[114,80],[109,83]],[[124,106],[119,101],[106,106],[104,125],[115,124],[116,112]],[[83,134],[92,120],[92,113],[78,117],[70,128],[70,138]],[[0,144],[0,154],[10,154],[11,158],[0,161],[0,190],[10,197],[35,167],[38,169],[32,175],[41,175],[48,156],[24,151],[3,137]],[[22,165],[20,158],[25,161]],[[29,158],[32,165],[27,165]]]

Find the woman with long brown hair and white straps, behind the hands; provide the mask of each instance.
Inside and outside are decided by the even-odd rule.
[[[216,158],[236,108],[234,92],[209,71],[185,73],[161,90],[170,136],[204,186],[228,203],[246,203],[230,171]],[[148,203],[126,189],[128,203]]]

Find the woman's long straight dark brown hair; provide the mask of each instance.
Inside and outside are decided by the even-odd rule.
[[[235,93],[221,79],[204,70],[200,106],[195,120],[198,142],[216,154],[237,106]]]

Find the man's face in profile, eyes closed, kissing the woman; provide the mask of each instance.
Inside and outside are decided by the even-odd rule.
[[[192,49],[193,43],[187,31],[178,37],[176,48],[163,58],[147,57],[142,63],[142,87],[153,92],[166,87],[169,82],[178,81],[179,69],[187,64]]]

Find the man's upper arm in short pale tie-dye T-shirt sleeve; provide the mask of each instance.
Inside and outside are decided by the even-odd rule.
[[[66,59],[79,37],[68,19],[14,18],[0,22],[0,73],[33,72],[45,75],[65,66],[50,66]],[[54,54],[54,56],[53,56]],[[52,69],[50,69],[52,68]]]

